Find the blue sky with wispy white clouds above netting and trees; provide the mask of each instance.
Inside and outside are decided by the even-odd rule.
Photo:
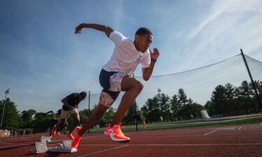
[[[139,27],[150,28],[151,48],[160,52],[153,75],[165,75],[233,57],[240,48],[262,61],[261,19],[259,0],[0,1],[0,99],[10,88],[18,110],[46,112],[58,110],[72,92],[99,93],[101,66],[114,45],[92,29],[75,35],[82,22],[108,25],[129,38]],[[87,100],[80,109],[86,106]]]

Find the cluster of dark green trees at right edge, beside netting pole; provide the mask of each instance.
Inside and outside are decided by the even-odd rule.
[[[262,82],[254,81],[259,98],[262,98]],[[232,84],[218,85],[212,92],[211,100],[205,104],[205,108],[212,116],[231,116],[250,114],[261,111],[251,82],[243,81],[240,87]]]

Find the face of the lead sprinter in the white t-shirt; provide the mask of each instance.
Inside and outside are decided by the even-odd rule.
[[[150,47],[150,44],[153,41],[153,36],[150,35],[149,33],[143,36],[136,35],[135,40],[137,42],[136,48],[138,49],[138,51],[145,52]]]

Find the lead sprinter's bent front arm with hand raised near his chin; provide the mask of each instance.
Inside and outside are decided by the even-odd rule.
[[[143,80],[145,81],[149,80],[152,75],[154,64],[157,61],[157,57],[159,57],[159,50],[157,50],[157,48],[154,48],[153,52],[150,50],[150,57],[151,57],[150,66],[148,68],[142,68]]]

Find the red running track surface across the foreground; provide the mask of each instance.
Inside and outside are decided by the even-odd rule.
[[[181,157],[262,157],[262,125],[210,128],[176,128],[127,132],[129,143],[113,142],[103,133],[85,135],[72,154],[29,154],[41,135],[0,140],[0,157],[8,156],[181,156]],[[52,141],[68,140],[65,135]],[[52,147],[54,144],[48,144]]]

